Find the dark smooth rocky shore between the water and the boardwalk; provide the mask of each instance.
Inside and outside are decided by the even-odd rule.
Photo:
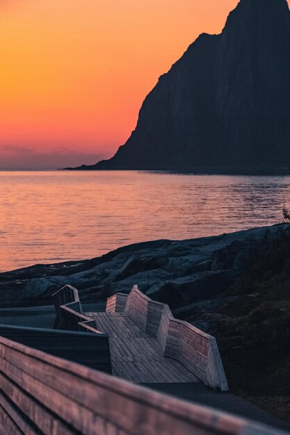
[[[191,240],[155,240],[121,247],[85,261],[33,265],[0,274],[0,306],[50,302],[65,284],[76,286],[83,301],[95,301],[134,284],[172,310],[216,298],[255,259],[266,240],[287,225],[275,225]]]

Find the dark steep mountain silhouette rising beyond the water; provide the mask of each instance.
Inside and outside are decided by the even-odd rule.
[[[241,0],[145,98],[113,158],[86,170],[290,172],[290,12]]]

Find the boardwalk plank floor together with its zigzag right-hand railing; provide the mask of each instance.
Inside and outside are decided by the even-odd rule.
[[[228,390],[216,339],[175,319],[168,305],[153,301],[134,286],[129,295],[110,297],[106,308],[106,313],[86,315],[110,337],[115,375],[140,383],[200,379],[218,391]],[[143,346],[140,338],[147,338]],[[146,375],[147,363],[152,368]]]

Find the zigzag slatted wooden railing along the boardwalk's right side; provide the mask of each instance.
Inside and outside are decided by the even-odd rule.
[[[127,299],[127,301],[126,301]],[[120,303],[122,301],[122,303]],[[156,336],[165,356],[180,361],[204,384],[216,391],[227,391],[227,379],[216,338],[175,319],[166,304],[155,302],[134,286],[129,295],[116,294],[107,300],[107,309],[124,306],[131,320],[147,334]]]

